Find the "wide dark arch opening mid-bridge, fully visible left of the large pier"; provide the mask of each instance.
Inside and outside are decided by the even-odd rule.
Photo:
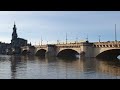
[[[57,57],[76,57],[79,52],[73,49],[63,49],[58,54]]]

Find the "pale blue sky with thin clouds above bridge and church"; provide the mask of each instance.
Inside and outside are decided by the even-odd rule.
[[[18,37],[33,45],[86,40],[120,41],[120,11],[0,11],[0,41],[10,43],[14,21]]]

